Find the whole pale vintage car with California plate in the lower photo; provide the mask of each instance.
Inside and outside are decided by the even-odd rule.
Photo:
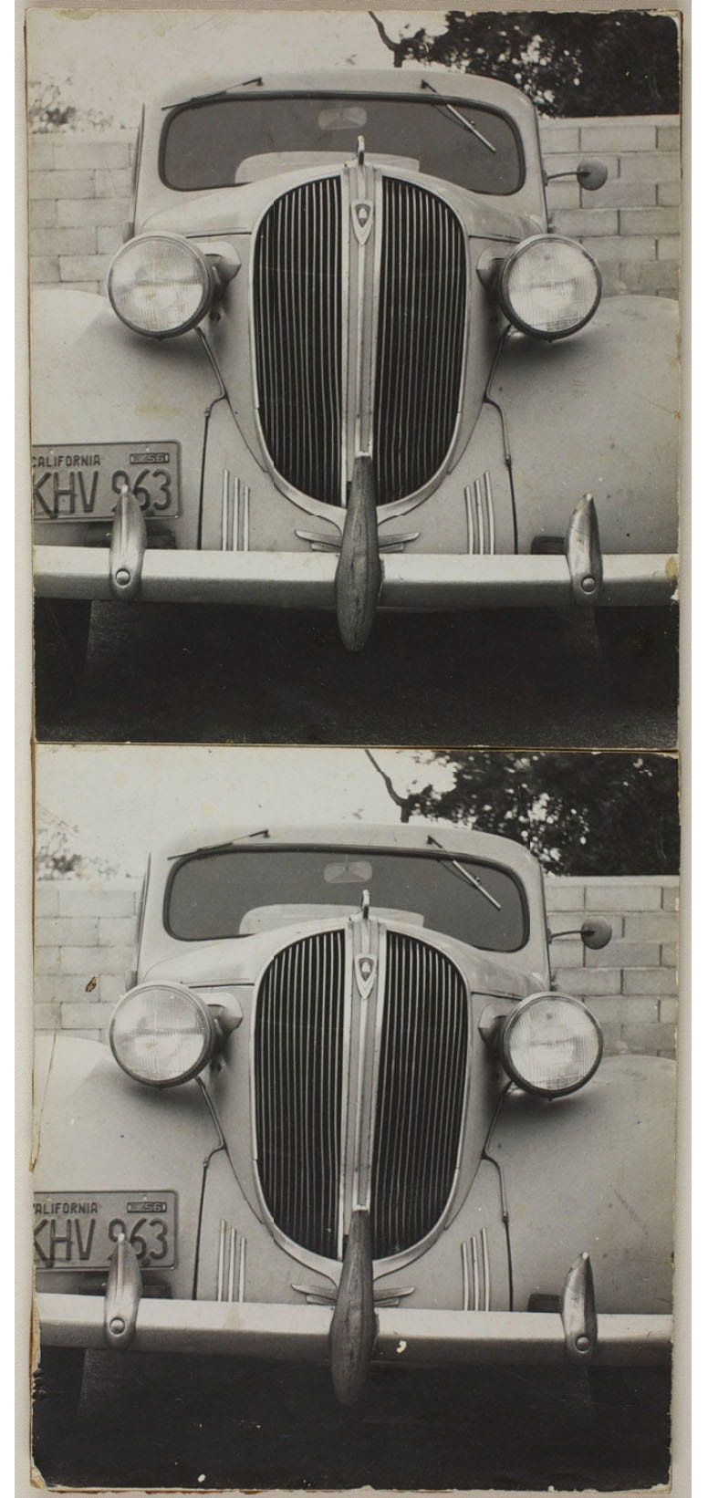
[[[109,1044],[39,1041],[37,1420],[85,1348],[310,1360],[344,1405],[668,1362],[674,1068],[602,1059],[549,939],[537,861],[437,822],[156,854]]]

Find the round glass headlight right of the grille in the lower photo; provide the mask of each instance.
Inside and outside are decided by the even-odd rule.
[[[501,1031],[501,1064],[519,1088],[558,1098],[575,1092],[600,1065],[602,1031],[579,999],[533,993]]]

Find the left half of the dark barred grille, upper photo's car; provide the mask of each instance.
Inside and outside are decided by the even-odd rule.
[[[277,198],[256,238],[254,352],[260,425],[278,473],[338,503],[341,463],[341,186]]]

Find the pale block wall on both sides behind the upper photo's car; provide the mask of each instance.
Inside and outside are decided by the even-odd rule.
[[[678,294],[680,124],[675,115],[546,120],[540,139],[548,172],[575,171],[600,156],[608,181],[581,192],[549,183],[561,234],[597,258],[606,292]],[[103,291],[111,255],[130,208],[135,132],[120,136],[30,136],[30,264],[34,285]]]

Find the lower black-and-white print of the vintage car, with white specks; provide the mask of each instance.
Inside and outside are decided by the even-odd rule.
[[[669,1480],[678,765],[39,746],[49,1488]]]

